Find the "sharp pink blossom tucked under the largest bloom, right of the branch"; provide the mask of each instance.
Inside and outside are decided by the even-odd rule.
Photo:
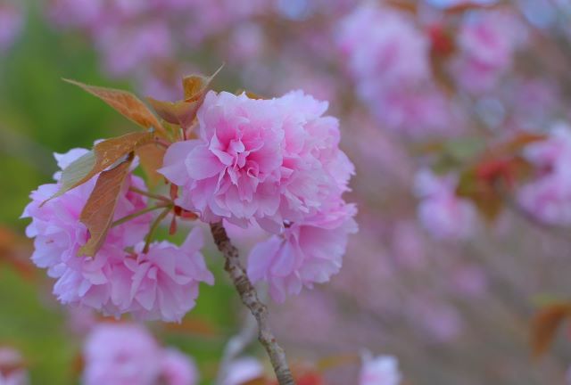
[[[355,213],[353,205],[340,201],[258,243],[248,258],[250,279],[267,281],[277,302],[288,294],[299,294],[303,286],[327,282],[342,266],[348,235],[357,231],[352,219]]]

